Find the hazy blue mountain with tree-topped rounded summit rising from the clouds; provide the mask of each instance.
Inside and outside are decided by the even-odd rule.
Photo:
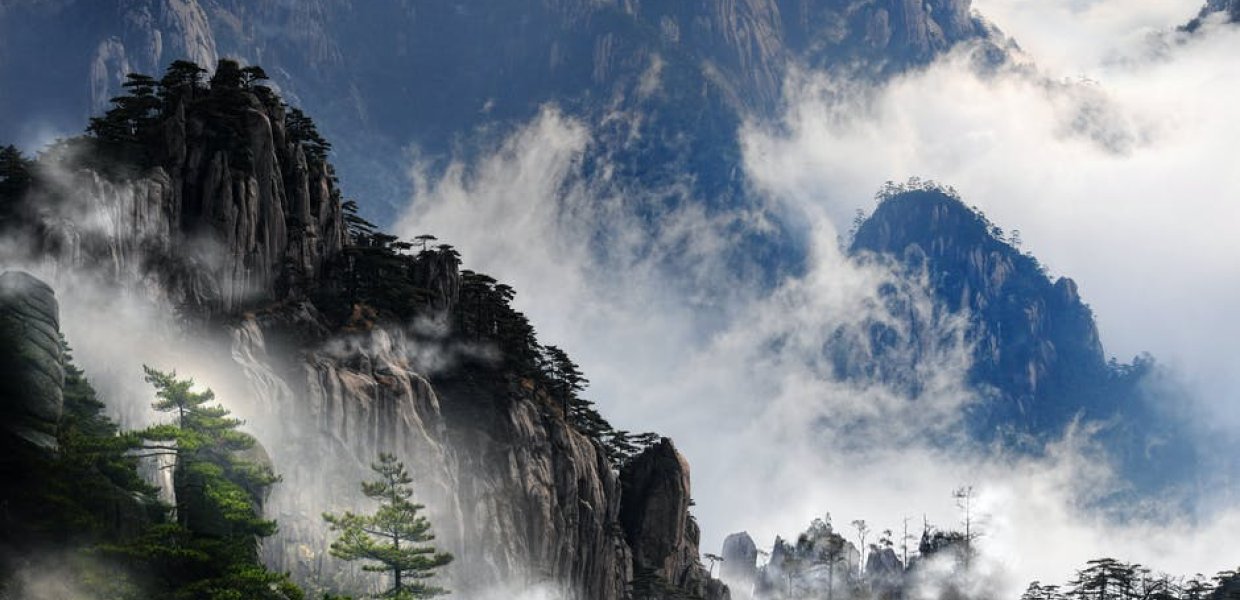
[[[1151,382],[1152,357],[1107,360],[1089,305],[1069,278],[1052,279],[1004,232],[935,185],[885,192],[849,252],[890,262],[926,285],[944,310],[966,315],[968,412],[975,439],[1037,451],[1070,426],[1102,425],[1100,440],[1143,492],[1209,471],[1169,402]],[[874,345],[884,345],[875,337]],[[882,361],[882,356],[878,358]]]

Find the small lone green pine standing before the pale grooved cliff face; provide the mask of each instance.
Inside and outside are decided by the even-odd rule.
[[[371,465],[378,480],[362,483],[362,493],[379,501],[373,514],[324,513],[331,531],[340,532],[331,544],[331,554],[343,560],[366,560],[362,567],[372,573],[392,575],[392,586],[379,598],[413,599],[448,594],[428,580],[435,569],[453,562],[453,555],[436,550],[427,542],[435,539],[430,522],[418,514],[425,506],[414,503],[413,490],[404,464],[391,454],[379,454]]]

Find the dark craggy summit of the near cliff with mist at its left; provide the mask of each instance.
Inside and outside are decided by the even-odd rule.
[[[187,108],[195,94],[226,93],[229,123],[221,123],[224,100]],[[288,131],[279,100],[237,89],[176,102],[138,176],[74,156],[50,166],[30,201],[40,207],[41,253],[205,317],[321,278],[343,245],[340,195],[331,167],[308,159]]]

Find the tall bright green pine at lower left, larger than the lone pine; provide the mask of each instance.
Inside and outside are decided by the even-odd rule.
[[[196,392],[192,379],[176,373],[144,369],[156,389],[153,407],[175,419],[128,438],[140,456],[175,459],[176,521],[109,550],[149,565],[169,598],[300,600],[303,593],[286,575],[258,562],[258,539],[275,533],[275,522],[259,514],[260,498],[278,477],[253,459],[254,438],[213,404],[212,390]]]

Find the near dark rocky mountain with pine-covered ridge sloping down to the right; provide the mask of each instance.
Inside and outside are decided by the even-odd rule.
[[[444,583],[461,596],[556,585],[572,598],[728,598],[698,562],[672,443],[613,430],[578,397],[567,355],[511,309],[511,288],[460,269],[449,245],[413,252],[360,218],[314,121],[262,82],[228,61],[210,78],[184,62],[130,78],[88,135],[37,161],[6,150],[0,222],[29,253],[11,262],[55,265],[51,284],[89,281],[175,315],[174,343],[233,390],[224,402],[283,477],[263,500],[279,523],[265,564],[315,593],[366,589],[327,554],[320,514],[353,507],[341,482],[393,452],[456,555]],[[0,306],[9,330],[31,332],[6,347],[37,350],[9,363],[5,444],[47,446],[66,368],[56,302],[29,275],[0,281],[31,290]],[[14,481],[40,477],[11,467]]]

